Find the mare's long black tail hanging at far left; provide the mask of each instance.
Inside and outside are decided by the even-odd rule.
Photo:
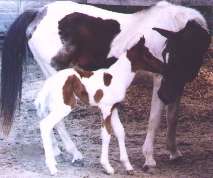
[[[22,69],[26,58],[26,29],[36,17],[35,10],[22,13],[9,28],[2,49],[1,64],[1,118],[4,135],[11,129],[22,89]]]

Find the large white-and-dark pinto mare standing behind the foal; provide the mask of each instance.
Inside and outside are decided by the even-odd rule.
[[[85,16],[93,17],[96,20],[80,17],[76,14],[85,14]],[[80,21],[81,18],[84,18],[83,23],[72,22],[77,18],[80,18]],[[69,22],[70,19],[71,22]],[[64,25],[62,22],[66,22],[66,20],[69,23]],[[104,22],[100,22],[100,20]],[[59,23],[58,26],[59,21],[61,25]],[[97,21],[100,23],[96,24]],[[94,29],[87,22],[89,24],[95,23],[99,28]],[[85,23],[87,25],[84,25]],[[112,24],[109,25],[110,23]],[[72,27],[71,29],[67,28],[69,25]],[[114,27],[112,28],[112,26]],[[156,30],[166,38],[156,30],[152,30],[153,27],[158,27]],[[105,28],[112,29],[111,34],[107,34],[112,43],[108,40],[109,38],[104,38],[105,30],[103,29]],[[167,29],[167,31],[162,30],[162,28]],[[103,34],[102,38],[95,37],[95,34],[101,35],[99,30]],[[181,30],[183,30],[183,33],[175,33],[181,32]],[[76,39],[72,41],[72,38],[75,39],[73,34],[76,33],[77,36],[80,35],[80,39],[82,39],[81,37],[88,37],[85,38],[87,40]],[[203,35],[200,36],[200,34]],[[91,36],[93,38],[90,38]],[[151,112],[148,133],[143,146],[146,159],[145,166],[156,165],[153,158],[153,144],[160,115],[165,106],[164,103],[169,103],[167,107],[167,145],[170,157],[172,159],[178,157],[180,153],[176,147],[175,133],[179,99],[183,86],[189,81],[185,79],[189,75],[188,73],[191,72],[191,79],[193,79],[199,70],[203,53],[209,43],[209,39],[207,39],[209,34],[205,19],[199,12],[164,1],[157,3],[150,9],[134,14],[115,13],[68,1],[53,2],[38,11],[27,11],[21,14],[10,27],[2,52],[1,111],[4,133],[9,133],[16,105],[21,98],[22,64],[27,43],[43,73],[46,77],[49,77],[56,72],[55,66],[58,66],[58,69],[66,68],[70,67],[71,63],[90,70],[109,67],[115,62],[115,57],[119,57],[124,51],[130,49],[138,37],[142,36],[145,36],[145,46],[149,48],[153,56],[161,61],[163,61],[163,56],[165,60],[171,59],[167,72],[165,72],[166,75],[163,75],[162,85],[162,75],[153,74],[154,87]],[[174,36],[178,37],[175,38]],[[202,43],[199,41],[200,38]],[[165,48],[166,41],[167,47]],[[87,45],[82,45],[82,43]],[[95,44],[95,48],[93,48],[93,44]],[[191,47],[192,45],[195,47]],[[203,50],[197,50],[197,53],[195,53],[194,49],[200,47]],[[101,51],[101,54],[99,51]],[[194,62],[194,54],[196,54],[196,61],[198,62]],[[110,58],[107,59],[107,55]],[[181,66],[184,66],[185,62],[187,62],[188,65],[186,66],[188,67],[187,71],[183,72]],[[51,66],[51,63],[54,67]],[[194,66],[194,63],[196,66]],[[175,68],[176,65],[179,66],[177,69]],[[176,70],[172,70],[174,68]],[[184,75],[178,77],[180,74]],[[177,87],[173,88],[173,86]]]

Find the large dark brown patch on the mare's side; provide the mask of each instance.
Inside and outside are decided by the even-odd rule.
[[[84,70],[108,68],[116,58],[107,59],[110,44],[120,32],[115,20],[103,20],[82,13],[71,13],[59,21],[63,48],[52,58],[57,70],[77,65]]]

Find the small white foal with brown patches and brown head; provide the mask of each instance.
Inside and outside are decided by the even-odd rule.
[[[94,72],[65,69],[46,80],[35,103],[39,115],[44,118],[40,123],[40,129],[46,164],[51,174],[57,172],[52,140],[54,127],[59,132],[65,149],[73,154],[73,161],[82,159],[81,153],[65,131],[63,122],[60,122],[72,111],[77,99],[86,104],[98,106],[103,114],[100,161],[106,172],[114,173],[108,159],[112,130],[119,142],[120,160],[128,173],[132,172],[133,168],[125,147],[125,132],[115,104],[124,99],[137,70],[146,69],[158,73],[163,70],[163,64],[151,55],[144,44],[145,39],[141,38],[108,69]],[[57,150],[56,144],[54,147]]]

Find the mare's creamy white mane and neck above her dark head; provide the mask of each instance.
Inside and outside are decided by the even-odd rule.
[[[132,14],[131,18],[132,24],[129,28],[123,30],[113,40],[108,57],[119,57],[144,36],[146,39],[145,46],[153,56],[163,62],[162,51],[165,47],[166,38],[152,30],[153,27],[179,31],[185,27],[189,20],[194,19],[204,29],[207,29],[204,17],[197,10],[165,1],[157,3],[150,9]]]

